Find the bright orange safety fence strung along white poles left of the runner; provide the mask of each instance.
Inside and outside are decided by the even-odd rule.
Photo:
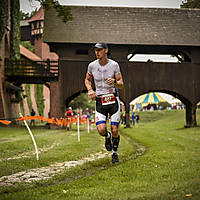
[[[78,118],[71,118],[71,119],[65,119],[65,118],[61,118],[61,119],[55,119],[55,118],[45,118],[45,117],[42,117],[42,116],[23,116],[22,118],[18,118],[17,120],[18,121],[24,121],[24,120],[36,120],[36,119],[39,119],[41,121],[46,121],[50,124],[57,124],[58,126],[69,126],[69,125],[73,125],[74,123],[77,122]],[[86,119],[81,119],[79,117],[79,124],[81,125],[82,123],[84,122],[87,122]],[[9,125],[11,123],[11,121],[7,121],[7,120],[0,120],[0,123],[3,123],[5,125]],[[91,124],[95,124],[95,121],[93,122],[90,122],[90,125]]]

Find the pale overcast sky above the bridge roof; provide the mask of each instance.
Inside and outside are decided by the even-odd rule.
[[[128,7],[156,7],[180,8],[183,0],[59,0],[62,5],[90,5],[90,6],[128,6]],[[20,0],[21,10],[31,12],[40,4],[32,0]]]

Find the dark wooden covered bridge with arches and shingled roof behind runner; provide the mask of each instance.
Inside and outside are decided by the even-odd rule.
[[[59,81],[50,86],[51,114],[63,115],[71,99],[86,91],[85,74],[95,59],[97,41],[109,45],[109,56],[120,64],[125,87],[127,127],[129,103],[158,91],[180,99],[186,126],[196,126],[200,101],[200,10],[168,8],[72,6],[73,21],[63,23],[55,10],[45,12],[44,41],[59,55]],[[128,55],[169,54],[179,63],[130,62]]]

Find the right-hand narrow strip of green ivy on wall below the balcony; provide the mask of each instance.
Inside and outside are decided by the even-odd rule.
[[[35,101],[38,108],[38,113],[40,116],[44,115],[44,95],[43,95],[43,85],[34,85]]]

